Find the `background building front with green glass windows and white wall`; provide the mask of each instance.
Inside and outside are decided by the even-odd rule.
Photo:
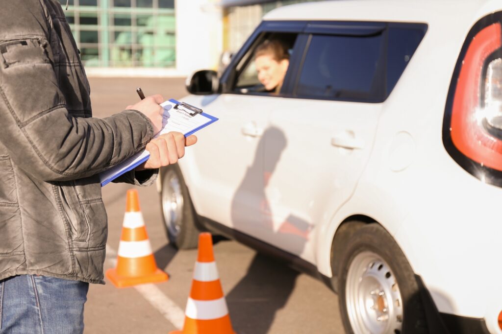
[[[66,8],[67,0],[59,2]],[[69,0],[65,15],[88,75],[186,76],[217,69],[222,53],[237,51],[263,15],[300,2]]]

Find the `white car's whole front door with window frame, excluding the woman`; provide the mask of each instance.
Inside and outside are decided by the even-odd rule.
[[[259,90],[263,87],[253,67],[253,51],[271,36],[282,37],[293,47],[298,35],[294,25],[287,25],[286,34],[281,25],[274,30],[267,27],[262,24],[235,56],[221,79],[222,94],[185,99],[219,120],[191,147],[195,163],[180,162],[190,170],[197,213],[253,236],[262,231],[264,221],[265,136],[273,105],[280,99]]]

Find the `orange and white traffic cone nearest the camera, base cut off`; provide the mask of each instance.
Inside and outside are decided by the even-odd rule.
[[[171,331],[170,334],[235,334],[214,261],[210,233],[199,235],[199,255],[195,262],[183,330]]]

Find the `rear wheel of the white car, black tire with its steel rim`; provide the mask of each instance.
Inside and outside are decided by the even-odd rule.
[[[376,223],[358,229],[339,263],[338,291],[347,334],[425,334],[420,289],[406,256]]]

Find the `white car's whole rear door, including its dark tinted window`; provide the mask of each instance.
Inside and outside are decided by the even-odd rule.
[[[385,94],[385,27],[325,28],[307,28],[293,98],[271,113],[270,126],[281,135],[265,144],[265,197],[274,233],[264,237],[313,263],[317,224],[353,193]]]

